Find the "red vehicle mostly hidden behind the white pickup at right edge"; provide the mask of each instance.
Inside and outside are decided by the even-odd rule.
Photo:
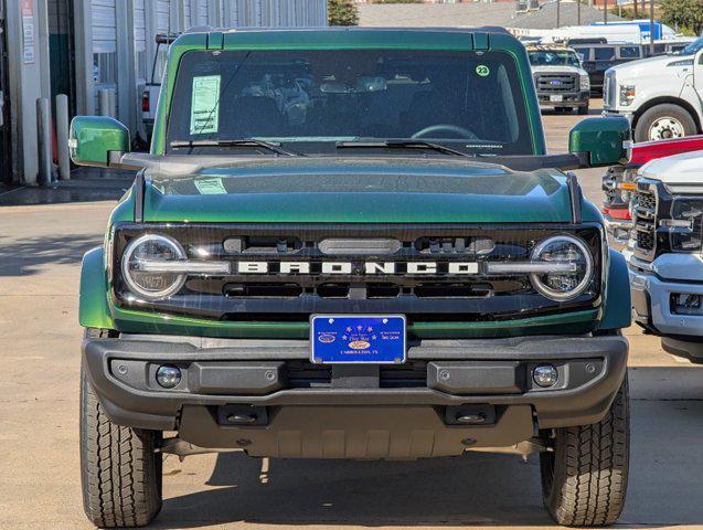
[[[603,178],[603,216],[608,234],[616,245],[625,245],[630,239],[632,216],[630,202],[637,189],[637,172],[645,163],[658,158],[683,152],[703,150],[703,136],[691,136],[673,140],[646,141],[632,145],[627,166],[608,168]]]

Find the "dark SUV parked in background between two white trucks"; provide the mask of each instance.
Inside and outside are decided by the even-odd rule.
[[[585,42],[584,42],[585,41]],[[595,94],[603,94],[606,70],[618,64],[629,63],[645,56],[641,44],[613,43],[603,40],[571,40],[572,46],[588,72],[590,89]]]

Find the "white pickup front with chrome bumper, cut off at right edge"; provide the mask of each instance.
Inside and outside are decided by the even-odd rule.
[[[645,165],[626,251],[635,321],[664,350],[703,362],[703,151]]]

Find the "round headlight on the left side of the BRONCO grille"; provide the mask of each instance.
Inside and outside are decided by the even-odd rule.
[[[178,293],[185,275],[163,271],[164,264],[185,259],[181,244],[158,234],[147,234],[131,241],[123,255],[123,277],[129,290],[149,300],[160,300]]]

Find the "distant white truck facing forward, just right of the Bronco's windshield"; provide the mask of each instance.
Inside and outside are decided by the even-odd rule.
[[[540,106],[588,114],[590,84],[576,52],[558,44],[526,45]]]

